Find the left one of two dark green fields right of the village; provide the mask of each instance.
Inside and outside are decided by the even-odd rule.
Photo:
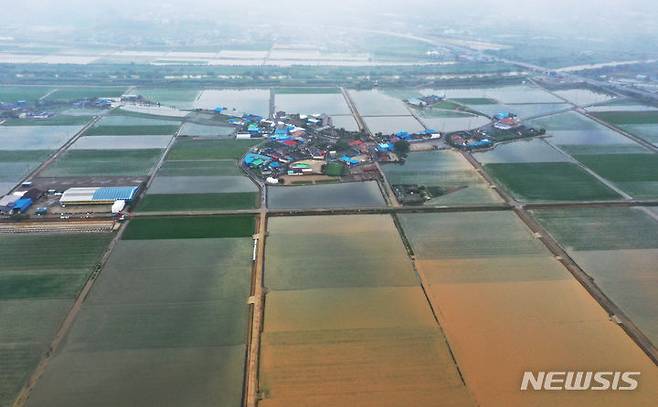
[[[523,201],[590,201],[621,198],[573,163],[513,163],[484,166]]]

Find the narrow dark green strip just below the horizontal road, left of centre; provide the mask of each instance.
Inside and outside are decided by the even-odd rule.
[[[253,216],[207,216],[133,219],[124,240],[249,237],[255,232]]]

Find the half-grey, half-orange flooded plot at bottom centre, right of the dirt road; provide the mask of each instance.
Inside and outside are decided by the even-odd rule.
[[[272,218],[266,251],[259,405],[475,405],[390,217]]]

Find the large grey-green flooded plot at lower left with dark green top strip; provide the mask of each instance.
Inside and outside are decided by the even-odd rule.
[[[28,406],[242,405],[253,220],[180,219],[128,225]]]

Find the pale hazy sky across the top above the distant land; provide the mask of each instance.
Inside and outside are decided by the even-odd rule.
[[[22,0],[3,9],[4,20],[28,27],[107,27],[113,20],[282,25],[315,20],[381,28],[388,24],[391,30],[423,24],[611,37],[656,33],[657,16],[655,0]]]

